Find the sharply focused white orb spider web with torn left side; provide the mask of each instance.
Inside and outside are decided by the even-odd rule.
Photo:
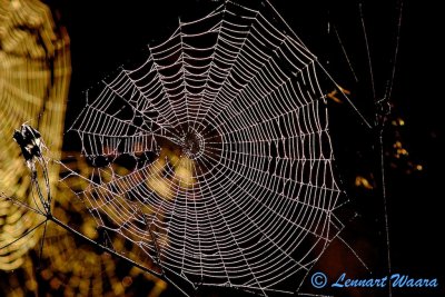
[[[227,1],[86,92],[77,195],[179,286],[298,291],[343,228],[318,63],[287,30]]]

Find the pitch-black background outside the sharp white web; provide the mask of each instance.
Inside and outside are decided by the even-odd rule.
[[[219,4],[219,1],[209,0],[47,2],[60,11],[60,21],[71,39],[72,80],[67,128],[85,103],[83,90],[140,55],[146,44],[168,38],[178,26],[178,17],[192,20]],[[374,122],[374,98],[357,1],[273,0],[271,3],[339,85],[352,90],[354,103]],[[362,6],[377,98],[383,97],[393,69],[399,4],[399,1],[364,1]],[[393,109],[384,131],[393,271],[437,277],[439,288],[397,290],[395,296],[439,296],[445,288],[445,246],[439,242],[444,241],[445,226],[444,111],[438,107],[445,91],[442,82],[444,48],[439,44],[444,36],[442,19],[442,11],[426,1],[404,1],[390,98]],[[333,26],[348,52],[358,83],[333,34]],[[329,100],[328,107],[337,169],[350,199],[344,210],[345,238],[358,249],[363,247],[363,238],[367,238],[365,248],[359,251],[365,259],[372,259],[376,271],[385,271],[384,206],[375,132],[362,123],[347,102]],[[392,125],[397,119],[403,119],[405,125]],[[75,145],[69,137],[66,147]],[[407,157],[395,157],[393,145],[397,140],[409,152]],[[423,170],[412,170],[409,162],[422,165]],[[366,177],[374,190],[356,187],[356,176]],[[348,220],[354,214],[357,218]],[[324,261],[333,267],[338,265],[335,259]]]

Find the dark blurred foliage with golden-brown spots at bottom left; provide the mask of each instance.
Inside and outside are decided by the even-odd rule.
[[[93,167],[77,152],[65,152],[62,159],[70,170],[87,176],[93,174]],[[63,168],[61,176],[67,174],[67,168]],[[58,185],[53,216],[89,238],[101,241],[97,222],[76,196],[79,186],[76,179],[70,177]],[[111,240],[109,245],[126,257],[139,261],[147,260],[140,258],[138,247],[125,238],[113,237],[109,240]],[[39,278],[44,280],[39,284],[43,284],[44,291],[51,293],[51,296],[157,297],[167,288],[166,283],[150,274],[123,260],[115,259],[107,253],[100,253],[93,246],[77,240],[72,234],[60,228],[48,230]]]

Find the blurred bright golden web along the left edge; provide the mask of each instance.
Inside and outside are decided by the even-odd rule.
[[[56,27],[49,8],[38,1],[0,1],[0,187],[8,197],[31,202],[30,175],[19,147],[11,141],[23,122],[47,139],[53,157],[60,157],[65,107],[70,79],[68,34]],[[58,179],[57,167],[49,178]],[[53,185],[51,185],[53,187]],[[36,214],[1,202],[0,245],[21,237],[39,220]],[[32,232],[0,251],[0,268],[23,265],[28,249],[36,246]]]

